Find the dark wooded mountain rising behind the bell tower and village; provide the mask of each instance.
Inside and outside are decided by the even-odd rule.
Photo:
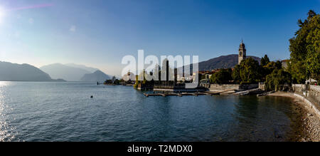
[[[258,58],[256,56],[247,56],[247,58],[253,58],[256,61],[261,60],[261,58]],[[213,69],[219,69],[219,68],[233,68],[235,65],[238,65],[238,55],[237,54],[231,54],[228,56],[219,56],[218,58],[211,58],[208,61],[202,61],[198,63],[199,71],[211,71]],[[182,68],[178,68],[179,70],[182,70]],[[190,69],[192,73],[192,65]]]

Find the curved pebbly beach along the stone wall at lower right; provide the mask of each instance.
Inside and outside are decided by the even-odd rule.
[[[294,111],[297,111],[299,116],[299,120],[297,122],[301,125],[299,125],[300,128],[294,132],[297,138],[292,138],[293,140],[297,140],[298,142],[320,141],[320,116],[316,110],[311,108],[310,103],[307,103],[306,100],[297,97],[294,93],[275,92],[271,93],[269,96],[292,98],[294,106],[297,106]]]

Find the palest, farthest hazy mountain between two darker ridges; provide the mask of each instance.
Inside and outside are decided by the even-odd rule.
[[[92,73],[82,68],[75,68],[61,63],[50,64],[40,69],[48,73],[51,78],[63,78],[68,81],[79,81],[86,73]]]

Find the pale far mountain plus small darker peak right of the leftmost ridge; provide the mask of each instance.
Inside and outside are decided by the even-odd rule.
[[[54,63],[40,68],[52,78],[63,78],[68,81],[100,81],[110,79],[111,76],[97,68],[91,68],[74,63]]]

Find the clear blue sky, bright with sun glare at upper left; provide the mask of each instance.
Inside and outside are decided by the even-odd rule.
[[[289,58],[298,19],[320,0],[0,0],[0,61],[78,63],[121,74],[126,55]]]

